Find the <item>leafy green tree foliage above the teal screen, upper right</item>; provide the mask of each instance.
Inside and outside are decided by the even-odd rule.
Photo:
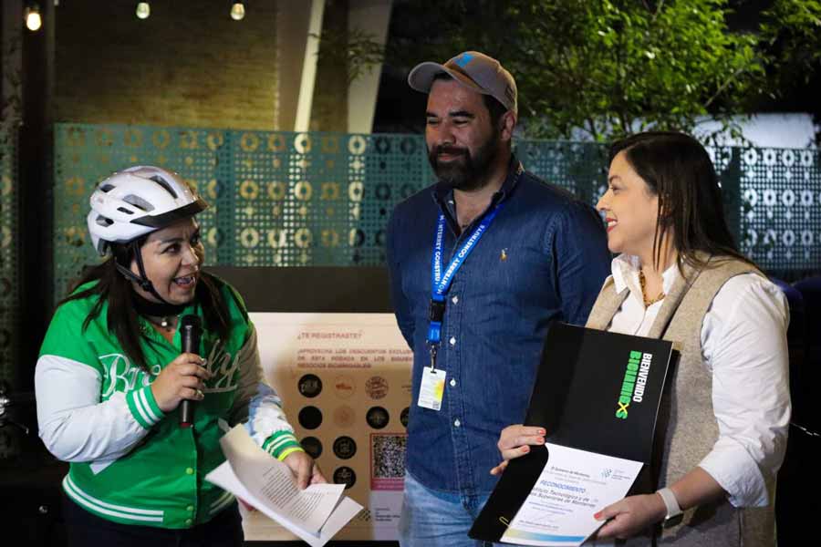
[[[499,58],[516,78],[528,138],[569,139],[582,130],[600,141],[650,128],[692,131],[707,114],[738,134],[731,117],[767,88],[768,71],[789,60],[789,53],[774,57],[777,41],[789,40],[786,52],[812,38],[804,67],[821,55],[815,1],[777,0],[757,33],[728,29],[728,0],[414,4],[420,15],[439,17],[434,36],[442,39],[412,46],[400,38],[390,60],[410,67],[466,49]]]

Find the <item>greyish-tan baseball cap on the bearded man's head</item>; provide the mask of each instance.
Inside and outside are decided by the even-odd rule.
[[[430,93],[433,78],[446,72],[462,86],[483,95],[490,95],[508,110],[518,112],[516,81],[499,61],[478,51],[465,51],[444,65],[427,61],[413,67],[408,75],[411,88]]]

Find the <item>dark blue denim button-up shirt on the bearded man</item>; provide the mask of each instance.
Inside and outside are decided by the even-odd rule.
[[[442,211],[446,267],[479,221],[457,236],[452,190],[441,183],[402,201],[390,219],[391,296],[413,350],[407,470],[433,490],[493,490],[496,442],[504,427],[525,418],[547,325],[584,325],[610,270],[598,214],[522,170],[518,160],[511,160],[489,210],[499,201],[504,207],[447,294],[436,362],[447,373],[439,411],[417,405],[422,368],[430,366],[433,235]]]

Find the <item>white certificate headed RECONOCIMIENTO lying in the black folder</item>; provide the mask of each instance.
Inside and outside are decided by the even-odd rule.
[[[622,499],[642,463],[546,443],[549,459],[502,542],[581,545],[603,524],[593,514]]]

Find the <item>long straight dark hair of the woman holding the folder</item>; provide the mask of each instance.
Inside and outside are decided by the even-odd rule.
[[[716,258],[733,257],[754,263],[738,251],[722,207],[718,175],[707,150],[689,135],[648,131],[612,144],[609,162],[624,152],[630,167],[659,197],[658,230],[653,240],[653,264],[661,259],[660,243],[672,229],[678,266],[704,267],[696,252]]]

